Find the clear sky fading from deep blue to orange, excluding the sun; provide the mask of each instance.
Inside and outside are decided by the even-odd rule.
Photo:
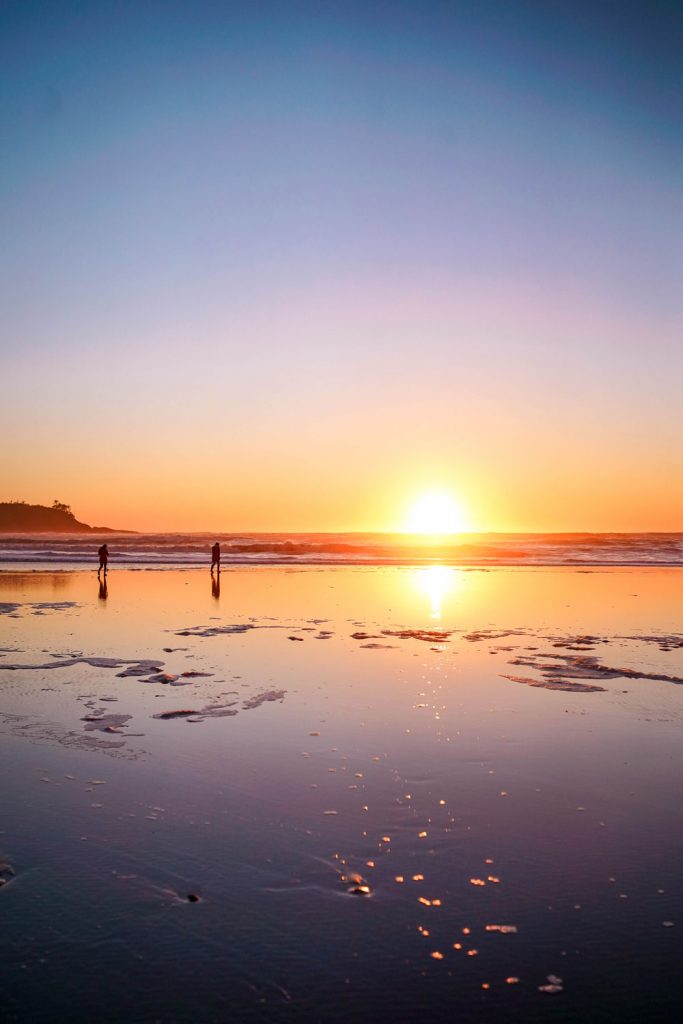
[[[0,500],[683,529],[683,6],[0,5]]]

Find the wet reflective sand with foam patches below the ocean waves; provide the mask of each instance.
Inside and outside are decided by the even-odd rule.
[[[0,1018],[677,1019],[682,597],[0,573]]]

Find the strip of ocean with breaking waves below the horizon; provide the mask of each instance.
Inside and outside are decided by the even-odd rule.
[[[0,565],[200,566],[219,541],[229,565],[682,565],[683,534],[88,534],[0,536]]]

